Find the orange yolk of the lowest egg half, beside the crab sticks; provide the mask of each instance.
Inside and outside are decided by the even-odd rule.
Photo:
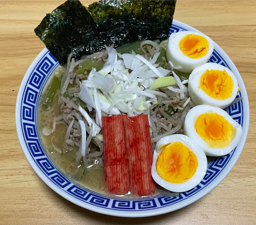
[[[158,175],[171,183],[183,183],[195,174],[197,157],[181,142],[168,144],[157,158]]]

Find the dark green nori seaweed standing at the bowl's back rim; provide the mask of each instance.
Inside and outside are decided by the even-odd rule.
[[[166,39],[176,1],[103,0],[88,7],[66,1],[35,28],[53,56],[64,64],[72,51],[75,59],[137,40]]]

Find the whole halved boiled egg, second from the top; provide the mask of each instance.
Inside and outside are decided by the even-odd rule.
[[[217,63],[205,63],[190,74],[188,90],[195,105],[225,109],[234,101],[239,88],[230,69]]]

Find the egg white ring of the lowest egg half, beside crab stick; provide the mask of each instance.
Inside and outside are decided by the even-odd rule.
[[[167,144],[170,144],[173,142],[179,142],[179,141],[181,143],[183,143],[184,145],[186,145],[192,152],[194,152],[195,156],[197,157],[198,166],[197,166],[197,170],[196,170],[195,174],[193,175],[193,177],[191,177],[189,180],[187,180],[183,183],[175,184],[175,183],[171,183],[171,182],[164,180],[163,178],[161,178],[158,175],[158,173],[156,172],[156,162],[157,162],[157,158],[158,158],[159,154],[163,150],[163,147],[162,147],[163,145],[167,145]],[[203,150],[199,147],[199,145],[197,143],[195,143],[193,140],[191,140],[186,135],[173,134],[173,135],[161,138],[157,142],[155,151],[153,154],[153,164],[151,167],[151,175],[152,175],[153,179],[155,180],[155,182],[157,184],[159,184],[160,186],[162,186],[163,188],[165,188],[169,191],[174,191],[174,192],[188,191],[188,190],[194,188],[195,186],[197,186],[203,180],[206,170],[207,170],[207,159],[206,159],[205,153],[203,152]]]

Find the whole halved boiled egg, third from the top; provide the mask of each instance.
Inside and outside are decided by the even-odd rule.
[[[199,105],[187,113],[184,134],[195,141],[207,156],[223,156],[239,143],[242,126],[220,108]]]

